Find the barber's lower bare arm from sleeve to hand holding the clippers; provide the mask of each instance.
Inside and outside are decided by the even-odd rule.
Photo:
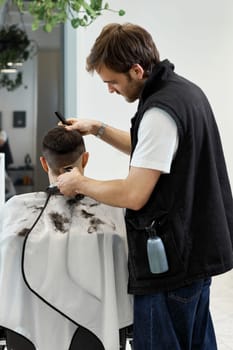
[[[102,181],[73,168],[58,176],[57,186],[66,196],[80,193],[108,205],[139,210],[147,203],[160,175],[158,170],[131,167],[125,179]]]

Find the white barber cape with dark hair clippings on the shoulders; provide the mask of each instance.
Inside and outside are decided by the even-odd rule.
[[[68,350],[78,325],[119,350],[131,325],[123,210],[90,198],[38,192],[12,197],[0,214],[0,325],[37,350]]]

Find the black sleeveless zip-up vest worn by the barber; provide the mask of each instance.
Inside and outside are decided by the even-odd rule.
[[[177,124],[179,146],[169,174],[162,174],[147,204],[126,210],[129,292],[171,290],[233,267],[233,199],[218,128],[199,87],[165,60],[145,83],[132,119],[132,153],[146,110],[159,107]],[[169,271],[152,274],[146,243],[156,222]]]

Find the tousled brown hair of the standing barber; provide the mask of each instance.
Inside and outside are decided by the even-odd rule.
[[[151,35],[131,23],[106,25],[96,39],[86,61],[88,72],[99,71],[103,65],[118,73],[127,73],[133,64],[140,64],[149,75],[160,61]]]

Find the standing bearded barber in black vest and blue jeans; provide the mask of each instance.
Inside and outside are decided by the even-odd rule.
[[[81,193],[125,207],[134,349],[217,349],[209,311],[211,277],[233,267],[233,200],[219,132],[199,87],[160,61],[151,35],[133,24],[103,28],[87,58],[110,93],[139,99],[130,134],[100,121],[70,119],[130,155],[125,179],[99,181],[77,169],[58,178],[65,195]],[[150,269],[152,228],[168,270]]]

